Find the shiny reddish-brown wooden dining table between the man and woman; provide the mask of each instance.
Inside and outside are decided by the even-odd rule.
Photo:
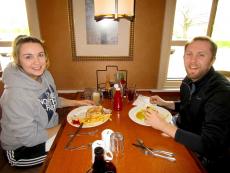
[[[178,93],[170,92],[139,92],[146,96],[158,94],[165,99],[176,100]],[[80,93],[77,94],[78,99]],[[112,161],[118,173],[200,173],[206,172],[198,159],[184,145],[177,143],[174,139],[162,135],[158,130],[149,126],[137,124],[129,118],[129,111],[134,107],[133,102],[123,100],[121,111],[112,111],[111,120],[92,127],[82,128],[81,132],[97,131],[96,134],[78,135],[71,143],[71,146],[91,144],[95,140],[101,139],[101,132],[104,129],[121,132],[124,136],[124,155],[116,161]],[[110,99],[101,101],[103,107],[113,109]],[[74,108],[71,108],[74,109]],[[173,114],[173,113],[172,113]],[[65,115],[67,116],[67,115]],[[66,119],[66,118],[65,118]],[[69,134],[73,134],[77,127],[70,125],[66,120],[63,121],[61,129],[48,153],[47,159],[43,164],[42,173],[86,173],[92,167],[92,149],[86,147],[80,150],[67,150],[65,145],[69,140]],[[142,149],[132,144],[136,139],[142,139],[145,145],[165,151],[175,153],[175,162],[166,159],[146,155]]]

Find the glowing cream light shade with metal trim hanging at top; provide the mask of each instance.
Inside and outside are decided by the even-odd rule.
[[[134,19],[135,0],[94,0],[95,20],[126,18]]]

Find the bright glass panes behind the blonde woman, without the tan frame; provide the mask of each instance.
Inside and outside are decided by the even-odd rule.
[[[30,35],[25,0],[0,1],[0,70],[11,61],[11,45],[18,35]]]

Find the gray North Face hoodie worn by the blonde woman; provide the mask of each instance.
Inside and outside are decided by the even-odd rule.
[[[3,72],[1,143],[5,150],[35,146],[48,139],[46,128],[58,124],[58,96],[46,70],[41,83],[11,63]]]

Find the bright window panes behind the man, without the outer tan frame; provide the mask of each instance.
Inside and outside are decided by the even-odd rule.
[[[184,45],[195,36],[210,36],[218,45],[216,70],[230,71],[230,1],[228,0],[177,0],[171,54],[169,55],[167,80],[185,77],[183,64]],[[226,20],[225,20],[226,19]]]

